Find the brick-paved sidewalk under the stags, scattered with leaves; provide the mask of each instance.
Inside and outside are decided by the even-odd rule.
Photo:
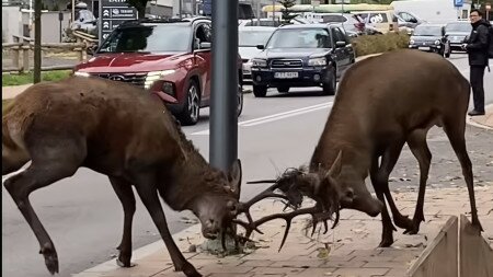
[[[416,192],[393,193],[403,215],[413,215]],[[493,246],[493,183],[475,186],[479,217],[484,228],[483,238]],[[266,200],[252,208],[252,216],[260,218],[277,211],[279,203]],[[438,233],[449,216],[466,213],[469,218],[469,200],[466,185],[456,188],[426,191],[426,222],[421,224],[419,234],[394,232],[392,247],[377,247],[380,241],[380,217],[370,218],[362,212],[343,210],[340,224],[328,234],[313,238],[305,234],[306,220],[297,218],[293,222],[284,249],[277,252],[285,222],[271,221],[261,227],[263,235],[254,234],[255,250],[227,257],[218,257],[200,251],[205,241],[199,226],[193,226],[174,235],[179,249],[185,257],[207,277],[219,276],[405,276],[406,269]],[[305,218],[307,219],[307,218]],[[197,245],[197,252],[190,252],[190,245]],[[115,259],[73,275],[74,277],[175,277],[183,273],[173,270],[168,251],[161,241],[146,246],[134,255],[133,268],[119,268]]]

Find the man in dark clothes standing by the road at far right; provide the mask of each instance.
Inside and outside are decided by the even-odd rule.
[[[471,10],[469,14],[472,31],[469,38],[462,45],[469,56],[470,79],[474,109],[469,112],[470,116],[484,115],[484,69],[488,66],[488,39],[490,22],[483,20],[479,10]]]

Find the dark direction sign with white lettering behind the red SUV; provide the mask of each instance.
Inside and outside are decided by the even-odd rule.
[[[100,4],[100,44],[119,24],[138,18],[137,9],[128,7],[126,0],[101,0]]]

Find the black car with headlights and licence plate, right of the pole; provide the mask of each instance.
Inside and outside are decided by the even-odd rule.
[[[348,37],[330,24],[278,27],[262,53],[252,59],[253,94],[263,97],[267,88],[286,93],[291,86],[322,86],[333,95],[336,81],[355,62]]]

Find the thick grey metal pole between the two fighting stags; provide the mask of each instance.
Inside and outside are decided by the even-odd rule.
[[[238,157],[238,0],[213,0],[209,161],[227,171]]]

